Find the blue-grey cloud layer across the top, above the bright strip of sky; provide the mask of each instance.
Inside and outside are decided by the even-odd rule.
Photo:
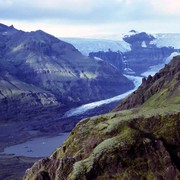
[[[152,0],[153,1],[153,0]],[[149,2],[149,1],[148,1]],[[106,23],[153,16],[145,0],[0,0],[4,19],[56,19],[67,23]]]

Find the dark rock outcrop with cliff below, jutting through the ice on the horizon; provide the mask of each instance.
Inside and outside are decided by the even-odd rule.
[[[150,66],[164,63],[164,60],[175,51],[173,47],[157,47],[151,44],[154,39],[154,36],[145,32],[123,38],[131,45],[131,51],[125,52],[124,56],[129,68],[138,74],[145,72]]]

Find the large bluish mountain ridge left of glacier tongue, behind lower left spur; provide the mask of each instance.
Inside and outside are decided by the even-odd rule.
[[[87,58],[52,35],[41,30],[23,32],[1,26],[1,71],[49,91],[63,106],[106,99],[133,87],[132,82],[108,63]]]

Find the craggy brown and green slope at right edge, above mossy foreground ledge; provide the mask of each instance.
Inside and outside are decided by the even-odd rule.
[[[144,78],[141,86],[125,99],[116,111],[138,107],[162,107],[180,103],[180,56],[156,73]]]

